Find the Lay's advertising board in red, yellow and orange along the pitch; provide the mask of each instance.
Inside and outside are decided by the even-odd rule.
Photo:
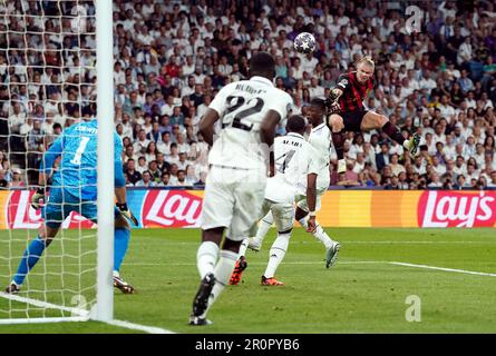
[[[0,229],[33,229],[32,190],[0,191]],[[200,227],[202,190],[128,189],[138,228]],[[318,220],[324,227],[496,227],[496,191],[328,190]],[[78,214],[64,228],[93,228]]]

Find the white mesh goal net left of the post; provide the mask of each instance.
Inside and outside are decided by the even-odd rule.
[[[6,293],[43,226],[30,204],[43,152],[96,113],[95,2],[0,0],[0,324],[86,319],[96,304],[97,230],[74,212]]]

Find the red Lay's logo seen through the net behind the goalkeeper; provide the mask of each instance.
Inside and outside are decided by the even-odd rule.
[[[6,209],[6,220],[9,229],[37,229],[43,219],[41,210],[35,210],[31,207],[31,196],[35,190],[11,191],[8,198]],[[64,221],[62,228],[93,228],[96,225],[84,216],[71,212]]]

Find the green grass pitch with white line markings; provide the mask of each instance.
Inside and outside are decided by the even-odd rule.
[[[115,291],[115,318],[175,333],[496,333],[495,229],[327,230],[342,246],[334,267],[325,269],[323,246],[295,229],[276,274],[286,285],[262,287],[260,278],[275,238],[271,229],[262,250],[247,253],[243,283],[224,289],[213,306],[208,318],[214,324],[201,328],[186,325],[200,281],[200,230],[134,230],[121,276],[137,294]],[[21,296],[67,306],[81,290],[88,300],[94,298],[95,231],[84,231],[88,238],[82,243],[75,231],[65,234],[36,266]],[[6,256],[11,250],[20,257],[26,236],[14,231],[11,240],[0,231],[1,287],[19,261]],[[80,274],[82,278],[77,277]],[[46,287],[55,291],[46,294]],[[420,322],[407,322],[412,309],[409,296],[419,298],[415,316]],[[29,308],[32,316],[68,315]],[[12,309],[18,312],[6,313]],[[22,317],[26,305],[0,298],[0,318]],[[88,322],[0,325],[0,333],[137,332]]]

